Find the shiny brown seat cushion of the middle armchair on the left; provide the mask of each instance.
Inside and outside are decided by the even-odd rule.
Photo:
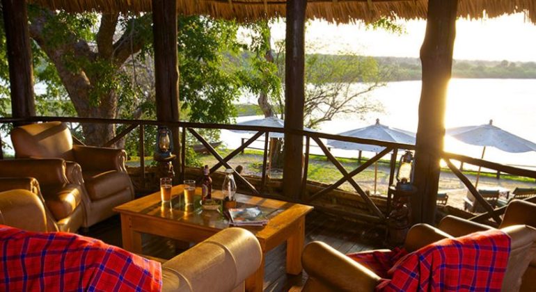
[[[81,186],[77,184],[63,184],[54,186],[41,186],[45,204],[56,220],[68,217],[81,202]]]

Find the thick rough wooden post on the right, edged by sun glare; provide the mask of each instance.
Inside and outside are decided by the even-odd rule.
[[[443,151],[446,92],[452,73],[457,0],[429,0],[426,35],[420,49],[423,88],[416,140],[415,186],[411,202],[413,223],[434,224]]]

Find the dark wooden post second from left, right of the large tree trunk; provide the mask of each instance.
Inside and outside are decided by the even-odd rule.
[[[155,48],[155,92],[157,120],[179,121],[179,69],[177,48],[177,2],[152,1],[152,34]],[[175,170],[180,170],[179,128],[171,128],[173,136],[173,161]],[[184,142],[184,141],[183,141]]]

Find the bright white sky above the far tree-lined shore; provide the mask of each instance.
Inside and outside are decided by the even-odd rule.
[[[306,42],[315,51],[338,54],[354,51],[366,56],[418,58],[423,44],[425,20],[398,21],[405,33],[397,35],[368,29],[364,24],[329,24],[314,20],[307,26]],[[458,19],[454,58],[457,60],[536,61],[536,26],[525,21],[523,14],[494,19]],[[285,24],[271,26],[274,40],[285,38]]]

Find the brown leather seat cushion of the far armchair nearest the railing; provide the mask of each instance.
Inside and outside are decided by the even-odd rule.
[[[101,200],[130,186],[130,178],[125,172],[85,171],[83,173],[86,190],[91,200]]]

